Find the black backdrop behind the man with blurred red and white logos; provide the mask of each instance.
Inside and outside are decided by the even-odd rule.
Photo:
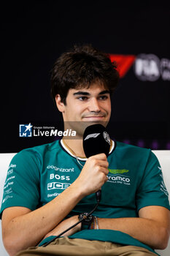
[[[125,75],[112,97],[108,127],[112,138],[170,149],[170,9],[152,1],[121,5],[36,1],[4,7],[1,152],[55,140],[20,138],[19,124],[62,128],[50,97],[50,69],[63,51],[83,43],[122,57],[120,68]],[[127,69],[128,55],[134,56],[134,62]]]

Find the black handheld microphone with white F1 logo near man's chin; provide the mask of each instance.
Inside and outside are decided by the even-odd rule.
[[[85,156],[91,157],[104,153],[109,156],[110,138],[106,128],[101,124],[93,124],[85,129],[83,135],[83,148]],[[101,200],[101,189],[96,192],[96,199]]]

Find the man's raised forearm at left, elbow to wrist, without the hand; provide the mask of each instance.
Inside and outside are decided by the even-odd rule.
[[[82,195],[79,194],[77,187],[70,186],[50,203],[35,211],[20,214],[20,216],[16,212],[17,217],[8,222],[3,232],[4,245],[10,252],[9,255],[15,255],[15,251],[26,249],[28,246],[36,246],[50,230],[53,230],[72,211],[72,208],[81,199]],[[3,225],[5,226],[5,218],[7,218],[5,213],[3,218]]]

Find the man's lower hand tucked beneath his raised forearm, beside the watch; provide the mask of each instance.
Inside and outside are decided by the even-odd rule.
[[[53,230],[51,230],[47,235],[43,238],[47,238],[49,236],[58,236],[60,233],[62,233],[64,230],[68,229],[75,223],[79,221],[78,215],[75,215],[73,217],[70,217],[69,219],[63,220],[61,223],[59,223]],[[66,233],[63,233],[62,236],[72,236],[74,233],[81,230],[81,223],[73,227],[71,230],[67,231]],[[42,239],[42,240],[43,240]]]

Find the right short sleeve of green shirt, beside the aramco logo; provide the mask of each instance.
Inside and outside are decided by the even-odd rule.
[[[152,151],[136,194],[137,211],[145,206],[163,206],[170,210],[169,192],[163,181],[161,165]]]

